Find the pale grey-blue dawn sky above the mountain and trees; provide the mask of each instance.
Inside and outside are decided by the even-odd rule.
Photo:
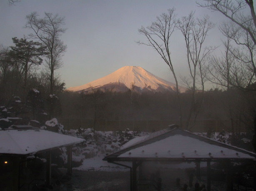
[[[24,28],[26,15],[36,11],[43,17],[44,12],[51,12],[65,17],[67,30],[61,39],[68,48],[57,73],[66,88],[89,83],[123,66],[141,66],[175,82],[160,55],[151,47],[136,43],[146,40],[138,33],[141,26],[147,27],[173,7],[177,18],[191,11],[199,18],[209,15],[216,27],[208,33],[206,46],[221,45],[218,24],[225,17],[198,7],[196,0],[20,0],[11,6],[8,0],[0,0],[0,44],[11,46],[12,37],[22,38],[32,32]],[[181,82],[180,76],[188,75],[188,64],[185,41],[178,30],[171,37],[171,59]]]

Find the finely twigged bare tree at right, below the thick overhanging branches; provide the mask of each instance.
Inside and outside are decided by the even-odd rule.
[[[256,82],[254,42],[246,30],[232,22],[223,23],[219,29],[226,37],[223,41],[225,51],[221,56],[209,59],[211,75],[208,79],[227,89],[253,90],[250,86]]]

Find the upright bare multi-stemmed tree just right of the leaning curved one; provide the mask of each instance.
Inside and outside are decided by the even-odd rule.
[[[178,20],[177,27],[181,30],[185,38],[188,68],[192,79],[192,86],[190,86],[188,81],[186,81],[192,91],[190,111],[186,120],[186,127],[189,128],[193,111],[196,111],[194,115],[194,122],[199,111],[199,108],[196,108],[196,79],[199,74],[200,83],[204,91],[205,75],[203,74],[202,65],[204,58],[214,49],[211,47],[203,47],[203,43],[205,42],[207,33],[214,27],[214,24],[209,21],[209,17],[207,15],[203,19],[195,19],[194,12],[191,12],[188,16],[182,17],[181,20]],[[199,73],[197,72],[198,70]],[[198,106],[200,105],[201,104]]]

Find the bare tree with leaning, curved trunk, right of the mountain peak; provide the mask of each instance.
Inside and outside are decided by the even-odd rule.
[[[181,111],[181,100],[179,96],[178,80],[176,77],[175,70],[173,68],[173,63],[171,61],[171,35],[176,28],[176,15],[174,14],[174,9],[168,9],[167,13],[161,14],[159,17],[156,17],[156,21],[148,27],[141,27],[138,29],[138,32],[144,35],[147,39],[147,42],[138,41],[138,44],[143,44],[155,49],[164,62],[169,66],[173,77],[176,83],[176,95],[179,105],[180,113],[180,125],[182,127],[182,111]]]

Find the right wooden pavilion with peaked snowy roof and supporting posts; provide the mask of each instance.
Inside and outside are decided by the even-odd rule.
[[[256,154],[228,144],[217,142],[206,137],[181,130],[178,125],[153,132],[144,137],[138,137],[133,144],[120,149],[118,152],[106,156],[106,160],[130,168],[131,190],[138,189],[138,175],[146,162],[195,162],[196,176],[200,176],[200,163],[207,163],[207,190],[211,190],[211,162],[252,162],[255,166]],[[138,168],[139,167],[139,168]],[[137,168],[139,170],[137,170]],[[232,165],[228,166],[230,171]],[[137,171],[138,175],[137,175]],[[232,190],[231,179],[227,178],[227,190]],[[254,190],[256,190],[256,176],[254,171]]]

